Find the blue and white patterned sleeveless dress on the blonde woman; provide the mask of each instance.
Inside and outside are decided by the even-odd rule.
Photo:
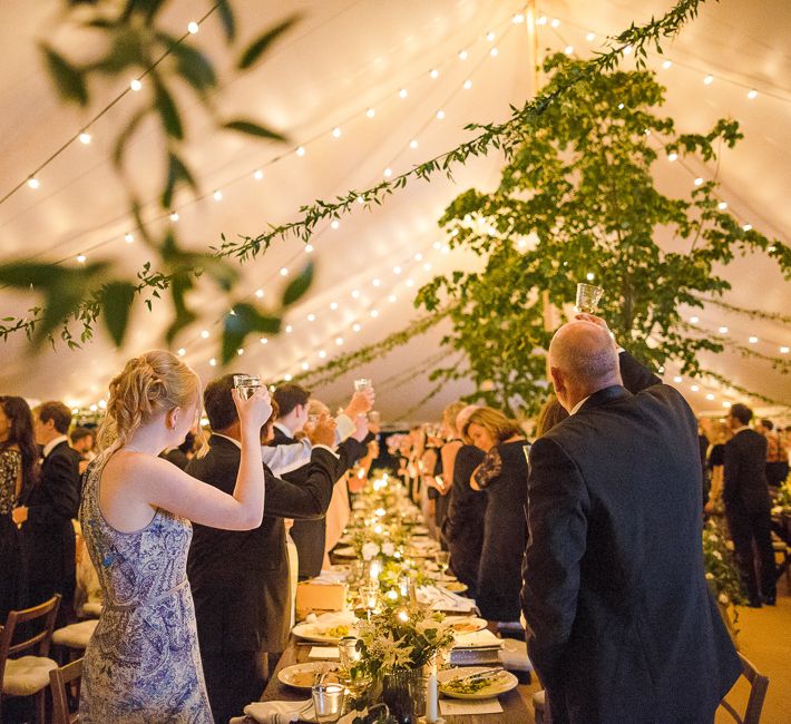
[[[80,722],[212,724],[186,576],[192,526],[157,510],[141,530],[113,528],[99,510],[107,459],[88,468],[80,508],[104,603],[85,653]]]

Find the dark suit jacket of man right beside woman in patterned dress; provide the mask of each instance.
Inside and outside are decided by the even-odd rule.
[[[240,449],[212,436],[209,451],[186,471],[232,493]],[[320,518],[335,482],[336,459],[321,448],[309,474],[296,486],[275,478],[266,466],[264,518],[253,530],[194,526],[187,576],[195,600],[201,649],[206,653],[281,652],[289,636],[289,558],[283,518]]]

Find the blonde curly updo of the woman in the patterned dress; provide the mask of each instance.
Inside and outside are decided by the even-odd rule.
[[[99,447],[104,450],[116,441],[124,446],[157,414],[194,403],[201,405],[201,398],[199,378],[175,354],[154,350],[133,358],[110,381]]]

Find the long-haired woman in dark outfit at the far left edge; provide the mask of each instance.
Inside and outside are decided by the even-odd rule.
[[[0,622],[28,603],[22,546],[13,508],[22,490],[36,483],[39,451],[33,418],[22,398],[0,398]]]

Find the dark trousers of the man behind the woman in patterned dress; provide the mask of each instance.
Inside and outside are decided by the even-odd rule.
[[[247,704],[261,698],[264,683],[257,652],[202,654],[202,659],[215,724],[242,716]]]

